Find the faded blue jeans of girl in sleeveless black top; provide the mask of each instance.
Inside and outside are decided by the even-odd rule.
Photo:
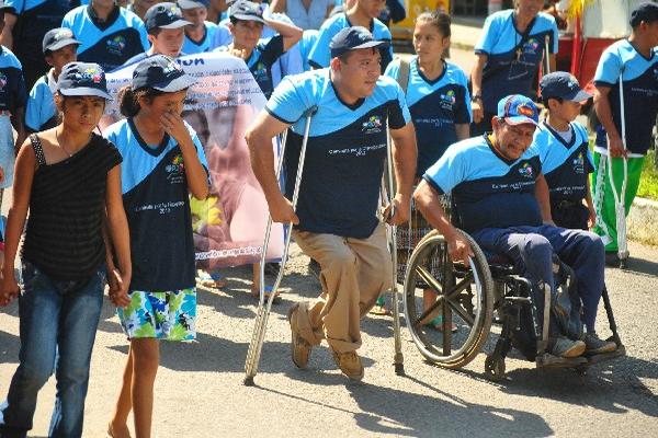
[[[80,437],[105,267],[86,280],[58,281],[24,263],[23,283],[20,364],[0,406],[0,436],[24,437],[32,429],[37,393],[55,371],[57,395],[48,436]]]

